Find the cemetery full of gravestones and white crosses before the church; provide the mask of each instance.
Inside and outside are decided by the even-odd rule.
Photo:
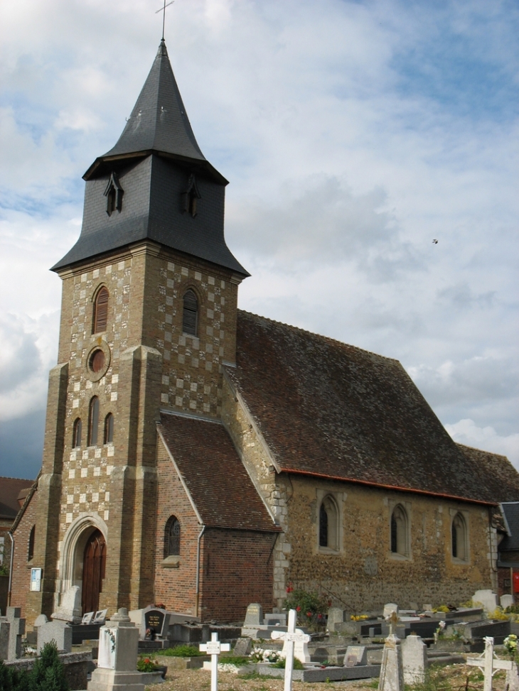
[[[510,596],[498,603],[488,590],[476,591],[471,606],[387,603],[363,614],[338,607],[315,616],[301,607],[264,613],[251,603],[242,626],[231,626],[201,624],[160,604],[121,608],[109,619],[106,611],[80,616],[72,588],[51,621],[38,616],[33,631],[26,632],[17,607],[0,616],[0,682],[9,670],[31,673],[50,646],[71,691],[144,691],[164,683],[167,689],[173,680],[178,688],[182,673],[210,673],[210,689],[218,691],[219,673],[230,670],[244,681],[278,679],[284,691],[300,682],[405,691],[423,684],[438,665],[464,669],[466,689],[519,691],[519,622],[505,612],[511,604]],[[469,685],[471,671],[478,681]],[[206,687],[206,676],[200,684]]]

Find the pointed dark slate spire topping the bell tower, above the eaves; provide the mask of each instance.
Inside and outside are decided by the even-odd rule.
[[[205,160],[178,91],[164,38],[132,115],[119,141],[105,156],[150,150]]]

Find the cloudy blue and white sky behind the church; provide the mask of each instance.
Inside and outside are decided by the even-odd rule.
[[[0,475],[41,466],[48,269],[151,68],[160,6],[0,6]],[[240,308],[400,360],[454,440],[519,468],[518,35],[515,0],[166,9],[193,131],[230,180]]]

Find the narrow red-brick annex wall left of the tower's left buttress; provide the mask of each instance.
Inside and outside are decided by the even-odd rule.
[[[37,503],[38,491],[33,494],[14,532],[15,550],[13,581],[11,584],[11,606],[21,607],[21,616],[28,616],[29,618],[31,618],[31,614],[33,613],[27,611],[26,598],[31,583],[31,567],[37,565],[33,564],[34,559],[31,561],[28,560],[29,537],[31,535],[31,529],[36,524]],[[38,535],[37,531],[38,526],[35,528],[36,537]]]

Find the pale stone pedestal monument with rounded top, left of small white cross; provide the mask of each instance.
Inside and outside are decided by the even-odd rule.
[[[97,669],[88,691],[144,691],[144,677],[137,672],[137,646],[139,630],[127,609],[119,609],[100,629]]]

